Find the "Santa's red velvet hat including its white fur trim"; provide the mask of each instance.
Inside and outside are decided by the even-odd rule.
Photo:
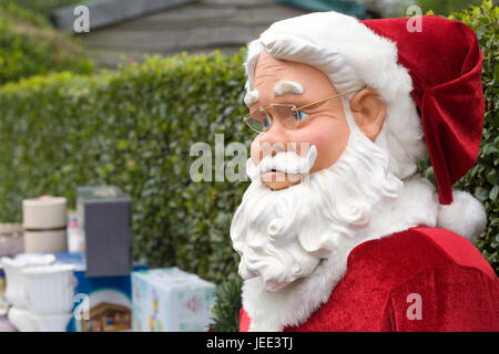
[[[477,160],[485,114],[471,29],[436,15],[359,22],[318,12],[278,21],[249,43],[247,90],[263,50],[318,67],[340,92],[376,90],[387,104],[376,143],[390,153],[395,175],[414,175],[428,150],[440,204],[452,202],[452,184]]]

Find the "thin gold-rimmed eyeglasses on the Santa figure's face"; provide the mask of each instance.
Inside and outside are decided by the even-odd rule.
[[[314,106],[316,104],[324,103],[332,98],[340,97],[357,91],[365,88],[365,86],[357,87],[344,93],[336,94],[334,96],[319,100],[301,107],[296,107],[292,104],[279,104],[272,103],[268,107],[258,107],[256,112],[249,113],[243,117],[243,122],[246,123],[256,133],[265,133],[272,127],[272,122],[274,117],[279,119],[279,123],[288,129],[296,129],[299,127],[301,123],[306,119],[309,114],[303,112],[302,110]],[[272,110],[272,114],[268,111]]]

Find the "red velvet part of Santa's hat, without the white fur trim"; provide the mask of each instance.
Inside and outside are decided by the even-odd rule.
[[[480,147],[485,98],[477,37],[466,24],[437,15],[361,23],[397,43],[398,63],[413,79],[410,95],[421,117],[440,204],[448,205],[451,186],[475,165]]]

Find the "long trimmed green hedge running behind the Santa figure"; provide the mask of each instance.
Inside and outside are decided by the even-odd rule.
[[[486,55],[485,137],[460,183],[487,206],[479,248],[498,269],[498,9],[461,15]],[[134,256],[221,282],[236,271],[228,229],[247,183],[193,183],[196,142],[253,135],[240,119],[244,53],[152,58],[100,76],[35,76],[0,87],[0,220],[19,221],[21,200],[77,186],[114,184],[133,199]],[[228,158],[226,159],[228,162]]]

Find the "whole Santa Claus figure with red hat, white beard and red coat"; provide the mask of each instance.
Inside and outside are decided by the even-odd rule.
[[[242,331],[499,331],[485,208],[451,190],[479,150],[482,55],[467,25],[418,20],[310,13],[249,43]]]

